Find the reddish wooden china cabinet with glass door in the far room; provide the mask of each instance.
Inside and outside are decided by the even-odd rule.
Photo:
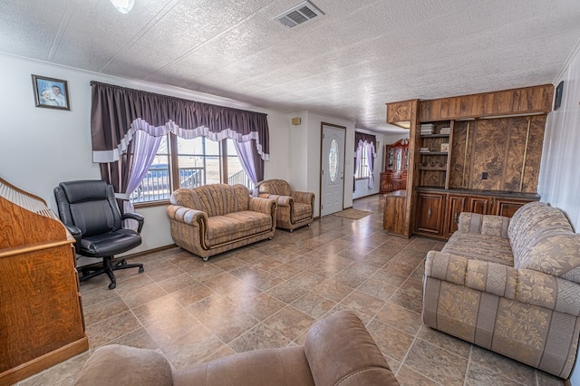
[[[409,168],[409,140],[385,145],[384,171],[381,173],[379,193],[385,194],[407,188]]]

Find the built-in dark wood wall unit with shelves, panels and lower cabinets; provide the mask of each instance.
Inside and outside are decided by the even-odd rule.
[[[511,217],[538,200],[553,94],[554,87],[546,84],[417,101],[414,110],[401,109],[410,101],[387,103],[387,114],[394,114],[388,123],[410,122],[409,233],[447,239],[462,211]],[[421,134],[422,124],[432,125],[432,133]]]

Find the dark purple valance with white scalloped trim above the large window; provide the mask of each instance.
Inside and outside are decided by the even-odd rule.
[[[169,131],[181,138],[200,135],[209,140],[231,138],[256,144],[256,152],[269,159],[266,114],[189,101],[101,82],[92,85],[92,159],[110,163],[126,152],[136,130],[154,137]]]

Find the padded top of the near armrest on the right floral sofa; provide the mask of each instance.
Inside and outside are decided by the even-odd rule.
[[[430,251],[425,276],[564,314],[580,315],[580,285],[531,269]]]

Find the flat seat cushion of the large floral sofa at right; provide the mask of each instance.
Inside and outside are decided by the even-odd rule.
[[[449,237],[441,252],[498,264],[514,264],[509,240],[499,236],[458,230]]]

